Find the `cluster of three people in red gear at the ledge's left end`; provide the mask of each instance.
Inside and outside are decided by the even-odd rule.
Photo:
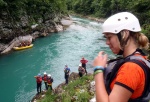
[[[43,76],[39,73],[37,76],[34,76],[36,78],[37,83],[37,93],[41,93],[41,87],[42,87],[42,81],[45,83],[45,89],[48,90],[49,88],[53,90],[52,83],[53,78],[50,74],[47,74],[46,72],[43,73]]]

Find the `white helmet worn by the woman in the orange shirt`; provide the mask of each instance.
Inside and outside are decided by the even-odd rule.
[[[141,31],[137,17],[129,12],[121,12],[109,17],[102,25],[103,33],[117,34],[122,30]]]

